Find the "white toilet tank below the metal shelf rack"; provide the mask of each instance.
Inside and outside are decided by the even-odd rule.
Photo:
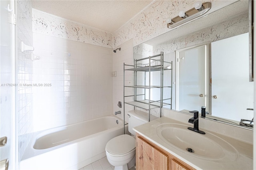
[[[128,117],[128,131],[136,135],[136,132],[132,128],[142,125],[148,122],[148,113],[139,110],[128,111],[130,117]],[[150,121],[157,119],[157,117],[150,115]]]

